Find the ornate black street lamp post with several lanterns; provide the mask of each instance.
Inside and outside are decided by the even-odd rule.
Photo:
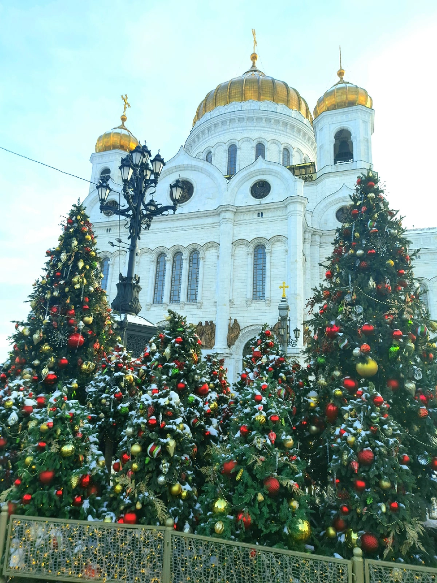
[[[149,164],[150,161],[150,164]],[[137,242],[141,230],[149,230],[153,217],[168,214],[170,210],[176,212],[178,200],[182,194],[182,182],[179,178],[170,185],[173,205],[160,205],[153,200],[154,191],[150,193],[150,200],[146,196],[151,188],[156,188],[164,160],[159,153],[150,160],[150,150],[146,145],[136,146],[134,150],[122,158],[119,169],[123,181],[122,195],[126,201],[124,207],[106,204],[111,188],[108,182],[101,179],[97,184],[97,193],[100,200],[100,212],[110,210],[115,215],[124,217],[129,224],[129,261],[126,277],[120,273],[117,283],[117,296],[112,301],[112,309],[123,314],[138,315],[141,311],[139,293],[140,278],[134,273]],[[153,175],[153,177],[152,177]]]

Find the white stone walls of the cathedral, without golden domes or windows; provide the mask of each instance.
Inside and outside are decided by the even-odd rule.
[[[347,129],[353,142],[354,161],[334,164],[334,135]],[[167,162],[161,173],[154,198],[171,204],[171,182],[180,175],[193,185],[189,201],[171,216],[153,220],[150,231],[142,233],[136,262],[140,276],[140,302],[147,320],[160,322],[168,308],[185,314],[188,321],[212,320],[216,324],[214,350],[225,356],[230,380],[241,370],[245,343],[267,322],[278,319],[279,286],[288,285],[291,328],[302,329],[306,300],[312,287],[323,276],[319,266],[330,255],[334,230],[339,222],[337,210],[350,202],[355,180],[372,163],[371,135],[373,110],[364,106],[326,111],[313,127],[297,111],[270,101],[246,101],[217,107],[193,127],[185,149]],[[256,143],[265,146],[265,159],[255,160]],[[227,152],[237,145],[237,173],[227,174]],[[290,150],[290,164],[317,163],[315,180],[295,178],[282,165],[282,153]],[[212,163],[206,154],[212,153]],[[91,181],[97,182],[103,168],[109,168],[118,200],[121,176],[118,165],[125,152],[93,153]],[[378,168],[376,168],[378,170]],[[383,169],[382,169],[383,170]],[[270,184],[265,198],[255,199],[251,186],[259,180]],[[117,185],[118,183],[118,185]],[[97,192],[90,189],[85,201],[87,212],[98,235],[103,257],[110,259],[108,295],[115,297],[118,273],[125,273],[124,250],[115,250],[108,241],[126,240],[123,220],[101,215]],[[431,315],[437,318],[437,229],[413,229],[408,232],[414,248],[421,248],[415,275],[428,290]],[[253,262],[257,245],[265,247],[265,299],[254,300]],[[199,251],[198,297],[188,302],[189,256]],[[182,253],[181,301],[170,303],[172,261]],[[156,262],[164,253],[165,283],[163,303],[153,303]],[[227,346],[228,323],[237,318],[241,333],[231,349]],[[303,335],[296,349],[302,350]]]

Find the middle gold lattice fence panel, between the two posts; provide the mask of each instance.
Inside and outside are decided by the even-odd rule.
[[[172,583],[351,583],[349,561],[172,536]]]

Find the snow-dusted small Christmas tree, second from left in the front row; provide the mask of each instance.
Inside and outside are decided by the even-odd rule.
[[[159,371],[128,416],[114,462],[108,518],[191,531],[199,514],[193,483],[196,446],[179,391]]]

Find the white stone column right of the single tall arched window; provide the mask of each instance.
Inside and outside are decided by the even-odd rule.
[[[290,335],[297,324],[301,335],[296,348],[288,350],[289,353],[298,354],[303,348],[304,321],[304,219],[305,208],[308,201],[304,196],[291,196],[287,200],[287,235],[288,235],[288,304],[290,305]]]

